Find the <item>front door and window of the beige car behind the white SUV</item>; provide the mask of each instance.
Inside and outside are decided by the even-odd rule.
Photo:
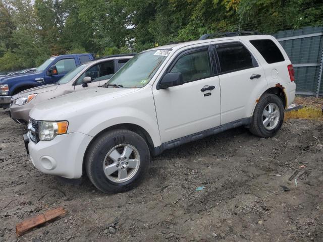
[[[114,61],[100,62],[87,69],[76,81],[75,91],[94,88],[103,85],[115,73]],[[83,87],[83,78],[91,77],[92,82]]]

